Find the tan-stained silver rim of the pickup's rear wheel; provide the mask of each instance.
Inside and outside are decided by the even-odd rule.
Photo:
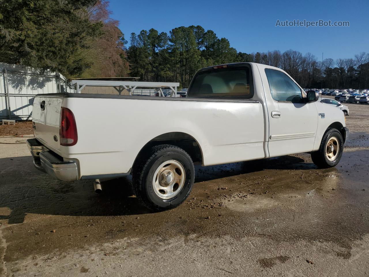
[[[155,194],[162,199],[170,199],[179,194],[186,179],[186,172],[181,163],[175,160],[161,163],[152,178]]]

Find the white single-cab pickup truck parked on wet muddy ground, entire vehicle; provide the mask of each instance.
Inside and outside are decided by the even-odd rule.
[[[334,167],[348,137],[344,113],[283,70],[255,63],[200,69],[187,98],[41,94],[33,103],[34,165],[62,181],[132,174],[137,198],[180,205],[203,166],[309,152]]]

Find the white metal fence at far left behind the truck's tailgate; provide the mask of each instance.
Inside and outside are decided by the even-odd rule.
[[[0,119],[32,119],[37,94],[74,92],[64,76],[34,68],[0,63]]]

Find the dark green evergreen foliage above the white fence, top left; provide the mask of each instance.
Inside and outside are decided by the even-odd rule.
[[[81,55],[102,24],[89,21],[94,0],[1,0],[0,60],[76,75],[92,63]]]

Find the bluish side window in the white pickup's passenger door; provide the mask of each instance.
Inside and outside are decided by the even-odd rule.
[[[282,71],[265,69],[270,93],[274,100],[299,103],[302,100],[301,89]]]

